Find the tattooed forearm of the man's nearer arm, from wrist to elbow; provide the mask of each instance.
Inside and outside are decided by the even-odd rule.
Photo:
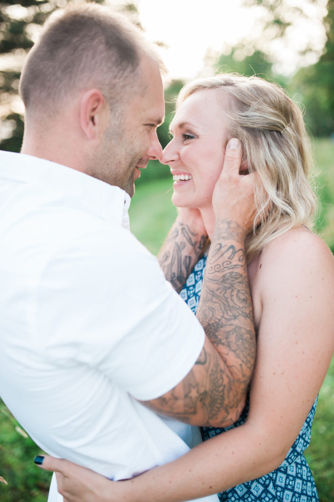
[[[246,392],[255,359],[253,306],[244,253],[245,233],[217,219],[196,316],[232,375]]]

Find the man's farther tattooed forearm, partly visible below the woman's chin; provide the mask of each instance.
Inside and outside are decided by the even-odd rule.
[[[158,255],[167,281],[178,293],[202,254],[206,242],[207,232],[198,209],[180,208]]]

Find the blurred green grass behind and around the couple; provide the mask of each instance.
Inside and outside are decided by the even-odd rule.
[[[315,171],[319,172],[322,210],[318,232],[334,251],[334,143],[314,142]],[[144,175],[144,173],[143,173]],[[144,178],[144,176],[142,177]],[[156,254],[176,216],[171,203],[171,177],[144,183],[140,180],[131,202],[131,229]],[[334,359],[321,388],[312,437],[306,458],[313,471],[320,502],[334,500]],[[0,483],[1,502],[45,502],[51,474],[38,469],[33,459],[40,453],[0,401]]]

